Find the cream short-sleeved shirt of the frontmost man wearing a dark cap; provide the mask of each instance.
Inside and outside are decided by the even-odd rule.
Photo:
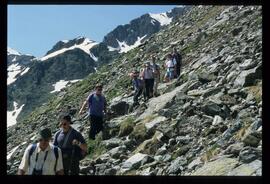
[[[49,146],[42,151],[39,147],[39,143],[37,143],[37,147],[32,153],[30,157],[30,167],[29,167],[29,151],[32,147],[32,144],[29,145],[23,155],[22,161],[20,163],[19,169],[25,171],[26,175],[31,175],[33,173],[34,168],[40,170],[43,165],[42,169],[42,175],[55,175],[55,162],[56,162],[56,157],[53,151],[53,145],[50,143]],[[44,162],[46,152],[47,153],[47,158]],[[38,153],[38,160],[36,162],[36,156]],[[44,163],[44,164],[43,164]],[[56,172],[63,170],[63,162],[62,162],[62,153],[61,150],[58,148],[58,159],[57,159],[57,164],[56,164]]]

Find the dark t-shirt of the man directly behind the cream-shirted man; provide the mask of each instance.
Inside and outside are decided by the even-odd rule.
[[[74,139],[77,139],[82,144],[85,144],[86,142],[82,134],[78,132],[77,130],[75,130],[74,128],[71,127],[69,131],[71,132],[69,134],[69,137],[65,145],[64,145],[64,141],[65,141],[66,136],[68,135],[68,132],[64,133],[62,129],[55,133],[53,144],[61,148],[63,155],[67,154],[71,156],[72,149],[73,149],[72,141]],[[58,135],[57,139],[56,139],[56,135]],[[75,146],[75,155],[79,156],[80,152],[81,152],[81,148],[79,148],[78,146]]]

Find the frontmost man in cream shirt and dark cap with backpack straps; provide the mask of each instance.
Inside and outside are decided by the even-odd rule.
[[[18,175],[63,175],[62,153],[50,143],[49,128],[42,128],[38,143],[29,145],[23,155]]]

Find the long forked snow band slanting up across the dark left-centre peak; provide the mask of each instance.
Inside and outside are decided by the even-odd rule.
[[[81,37],[81,38],[83,38],[83,37]],[[79,38],[77,38],[77,39],[79,39]],[[79,49],[83,50],[84,52],[86,52],[87,54],[89,54],[91,56],[90,49],[93,46],[97,45],[97,44],[98,44],[97,42],[94,42],[92,40],[89,40],[88,38],[85,38],[85,40],[79,45],[75,44],[75,45],[73,45],[73,46],[71,46],[69,48],[63,48],[61,50],[57,50],[57,51],[55,51],[53,53],[50,53],[50,54],[42,57],[40,60],[44,61],[44,60],[47,60],[47,59],[49,59],[51,57],[55,57],[55,56],[57,56],[59,54],[62,54],[64,52],[68,51],[68,50],[73,50],[73,49],[76,49],[76,48],[79,48]]]

